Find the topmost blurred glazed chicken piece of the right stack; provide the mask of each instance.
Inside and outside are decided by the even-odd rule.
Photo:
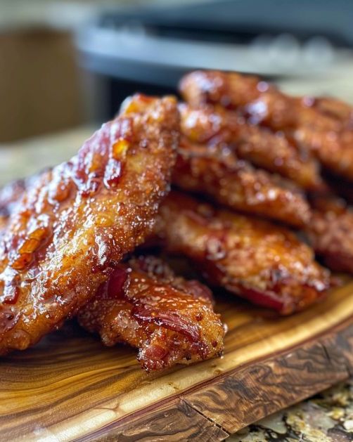
[[[345,112],[338,103],[333,110],[333,100],[312,105],[311,99],[287,96],[258,77],[236,72],[191,72],[182,79],[180,89],[193,106],[220,104],[240,110],[253,124],[284,131],[298,147],[314,153],[326,169],[353,179],[353,131],[347,124],[347,105]]]

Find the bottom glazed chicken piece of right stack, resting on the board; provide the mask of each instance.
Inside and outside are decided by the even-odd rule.
[[[167,252],[191,259],[211,285],[282,314],[313,304],[330,286],[328,271],[290,230],[181,193],[163,202],[155,235]]]

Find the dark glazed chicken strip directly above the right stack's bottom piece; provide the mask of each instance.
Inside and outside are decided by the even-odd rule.
[[[212,150],[182,138],[172,181],[184,190],[207,195],[241,212],[304,226],[309,204],[295,186],[285,186],[266,171],[238,160],[233,152]]]

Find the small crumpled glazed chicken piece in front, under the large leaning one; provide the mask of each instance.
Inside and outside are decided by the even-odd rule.
[[[175,276],[154,256],[120,264],[78,320],[107,346],[122,342],[139,349],[148,371],[213,358],[223,350],[224,326],[210,290]]]

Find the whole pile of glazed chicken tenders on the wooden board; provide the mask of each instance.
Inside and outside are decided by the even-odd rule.
[[[353,273],[353,108],[236,72],[180,93],[127,98],[70,161],[0,190],[1,355],[77,317],[166,370],[222,354],[215,288],[288,315]]]

